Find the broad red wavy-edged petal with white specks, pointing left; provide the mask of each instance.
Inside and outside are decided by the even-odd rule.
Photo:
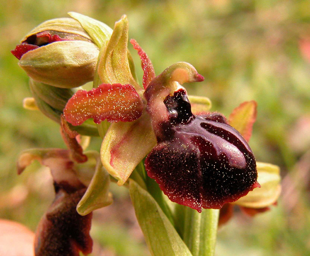
[[[109,122],[130,122],[142,114],[143,102],[130,84],[101,84],[90,91],[79,90],[69,99],[63,114],[67,122],[81,125],[89,118],[96,124]]]

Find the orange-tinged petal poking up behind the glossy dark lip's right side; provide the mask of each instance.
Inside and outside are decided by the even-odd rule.
[[[252,135],[253,124],[257,115],[257,103],[255,100],[241,103],[229,116],[229,124],[241,133],[249,141]]]

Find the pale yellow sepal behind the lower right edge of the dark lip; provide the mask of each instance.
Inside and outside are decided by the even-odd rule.
[[[279,166],[270,163],[256,162],[258,182],[261,188],[248,192],[235,204],[247,208],[265,208],[277,202],[281,192]]]

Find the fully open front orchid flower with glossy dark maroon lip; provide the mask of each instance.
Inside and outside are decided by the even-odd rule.
[[[131,40],[141,58],[143,90],[130,71],[127,41],[124,16],[100,52],[102,83],[79,90],[63,111],[74,126],[89,118],[112,122],[101,160],[118,184],[146,157],[147,174],[169,199],[199,212],[221,208],[260,187],[254,155],[242,135],[219,113],[192,113],[182,84],[203,80],[196,69],[177,63],[155,76],[146,53]]]

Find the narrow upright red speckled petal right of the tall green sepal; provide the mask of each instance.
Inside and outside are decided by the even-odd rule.
[[[143,69],[143,88],[146,89],[149,83],[155,78],[153,64],[135,39],[130,39],[130,43],[133,45],[134,49],[138,51],[140,56],[141,66]]]

